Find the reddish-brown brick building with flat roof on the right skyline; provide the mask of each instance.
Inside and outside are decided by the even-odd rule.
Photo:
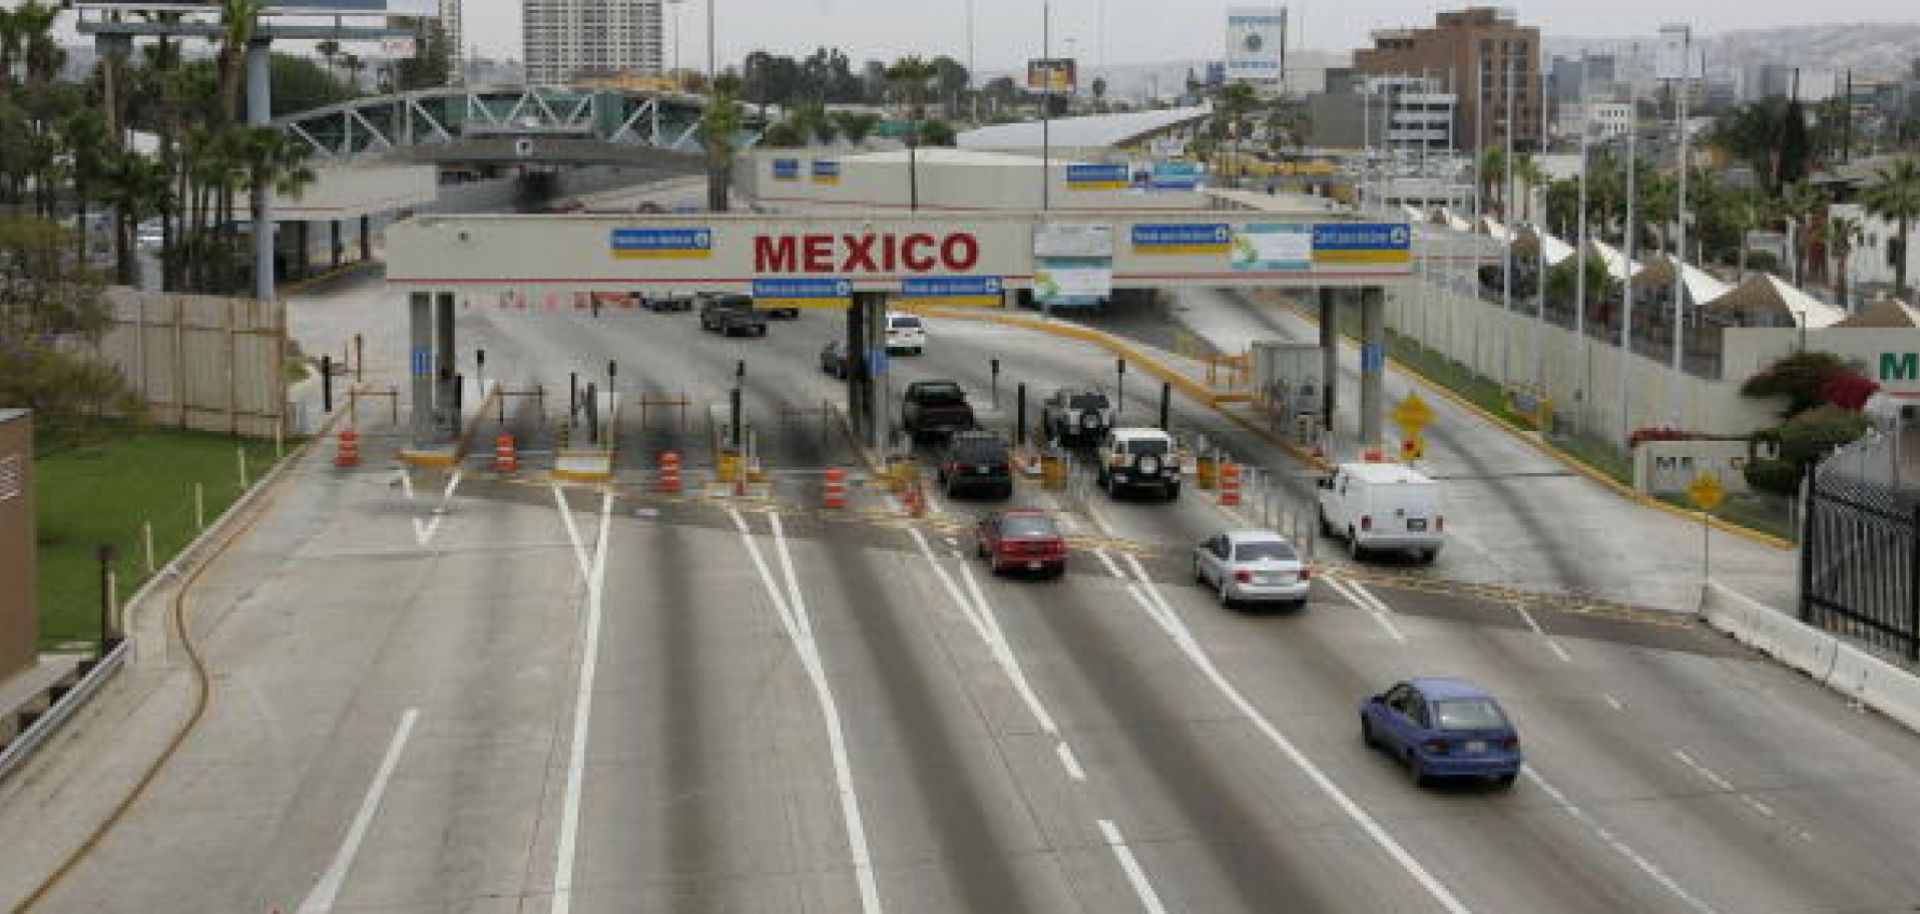
[[[1438,13],[1432,29],[1373,35],[1373,48],[1354,52],[1354,69],[1373,77],[1444,81],[1459,98],[1455,142],[1461,148],[1505,144],[1507,83],[1513,83],[1513,144],[1538,148],[1546,111],[1540,75],[1540,29],[1523,27],[1507,10],[1475,6]]]

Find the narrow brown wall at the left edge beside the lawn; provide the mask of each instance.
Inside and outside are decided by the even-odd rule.
[[[36,662],[33,415],[0,409],[0,682]]]

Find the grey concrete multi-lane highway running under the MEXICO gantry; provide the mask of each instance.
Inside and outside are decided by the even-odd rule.
[[[315,348],[361,330],[376,376],[401,369],[386,340],[403,315],[376,280],[296,311]],[[538,482],[540,445],[518,482],[309,455],[192,591],[204,720],[36,910],[1920,904],[1920,737],[1684,614],[1628,607],[1659,603],[1634,599],[1649,593],[1636,578],[1674,574],[1657,543],[1678,520],[1619,503],[1615,528],[1530,534],[1517,513],[1611,495],[1576,478],[1530,484],[1526,505],[1475,490],[1450,507],[1430,580],[1331,574],[1273,614],[1192,586],[1185,549],[1244,522],[1198,490],[1064,505],[1023,484],[1016,503],[1060,509],[1075,553],[1060,582],[1000,580],[966,536],[985,505],[935,497],[904,520],[862,490],[845,517],[818,511],[818,472],[858,467],[818,413],[839,399],[816,363],[837,332],[822,313],[724,340],[691,315],[463,311],[490,380],[559,392],[545,424],[516,401],[509,424],[530,442],[551,438],[566,374],[599,378],[609,359],[622,396],[685,396],[693,421],[641,428],[624,411],[609,488]],[[1098,349],[1018,328],[931,332],[924,357],[895,361],[897,388],[956,378],[1000,428],[1014,384],[1037,405],[1112,373]],[[739,359],[774,497],[645,492],[657,449],[710,467],[705,407]],[[1148,421],[1154,396],[1129,386],[1125,415]],[[1507,453],[1450,421],[1459,453]],[[1208,409],[1175,403],[1175,424],[1306,472]],[[1655,589],[1672,588],[1686,582]],[[115,793],[186,718],[169,697],[188,691],[186,655],[150,637],[129,682],[156,697],[100,705],[10,785],[0,839],[75,847],[83,812],[111,799],[79,785]],[[1357,701],[1413,674],[1501,697],[1528,755],[1511,791],[1421,789],[1361,745]],[[0,862],[0,899],[56,862]]]

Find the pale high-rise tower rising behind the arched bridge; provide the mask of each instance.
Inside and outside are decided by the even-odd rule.
[[[660,0],[520,0],[530,84],[660,73]]]

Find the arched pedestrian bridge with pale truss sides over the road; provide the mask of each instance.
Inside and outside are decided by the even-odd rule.
[[[737,146],[764,125],[745,111]],[[707,98],[572,86],[444,86],[365,96],[273,123],[319,159],[628,163],[699,152]]]

